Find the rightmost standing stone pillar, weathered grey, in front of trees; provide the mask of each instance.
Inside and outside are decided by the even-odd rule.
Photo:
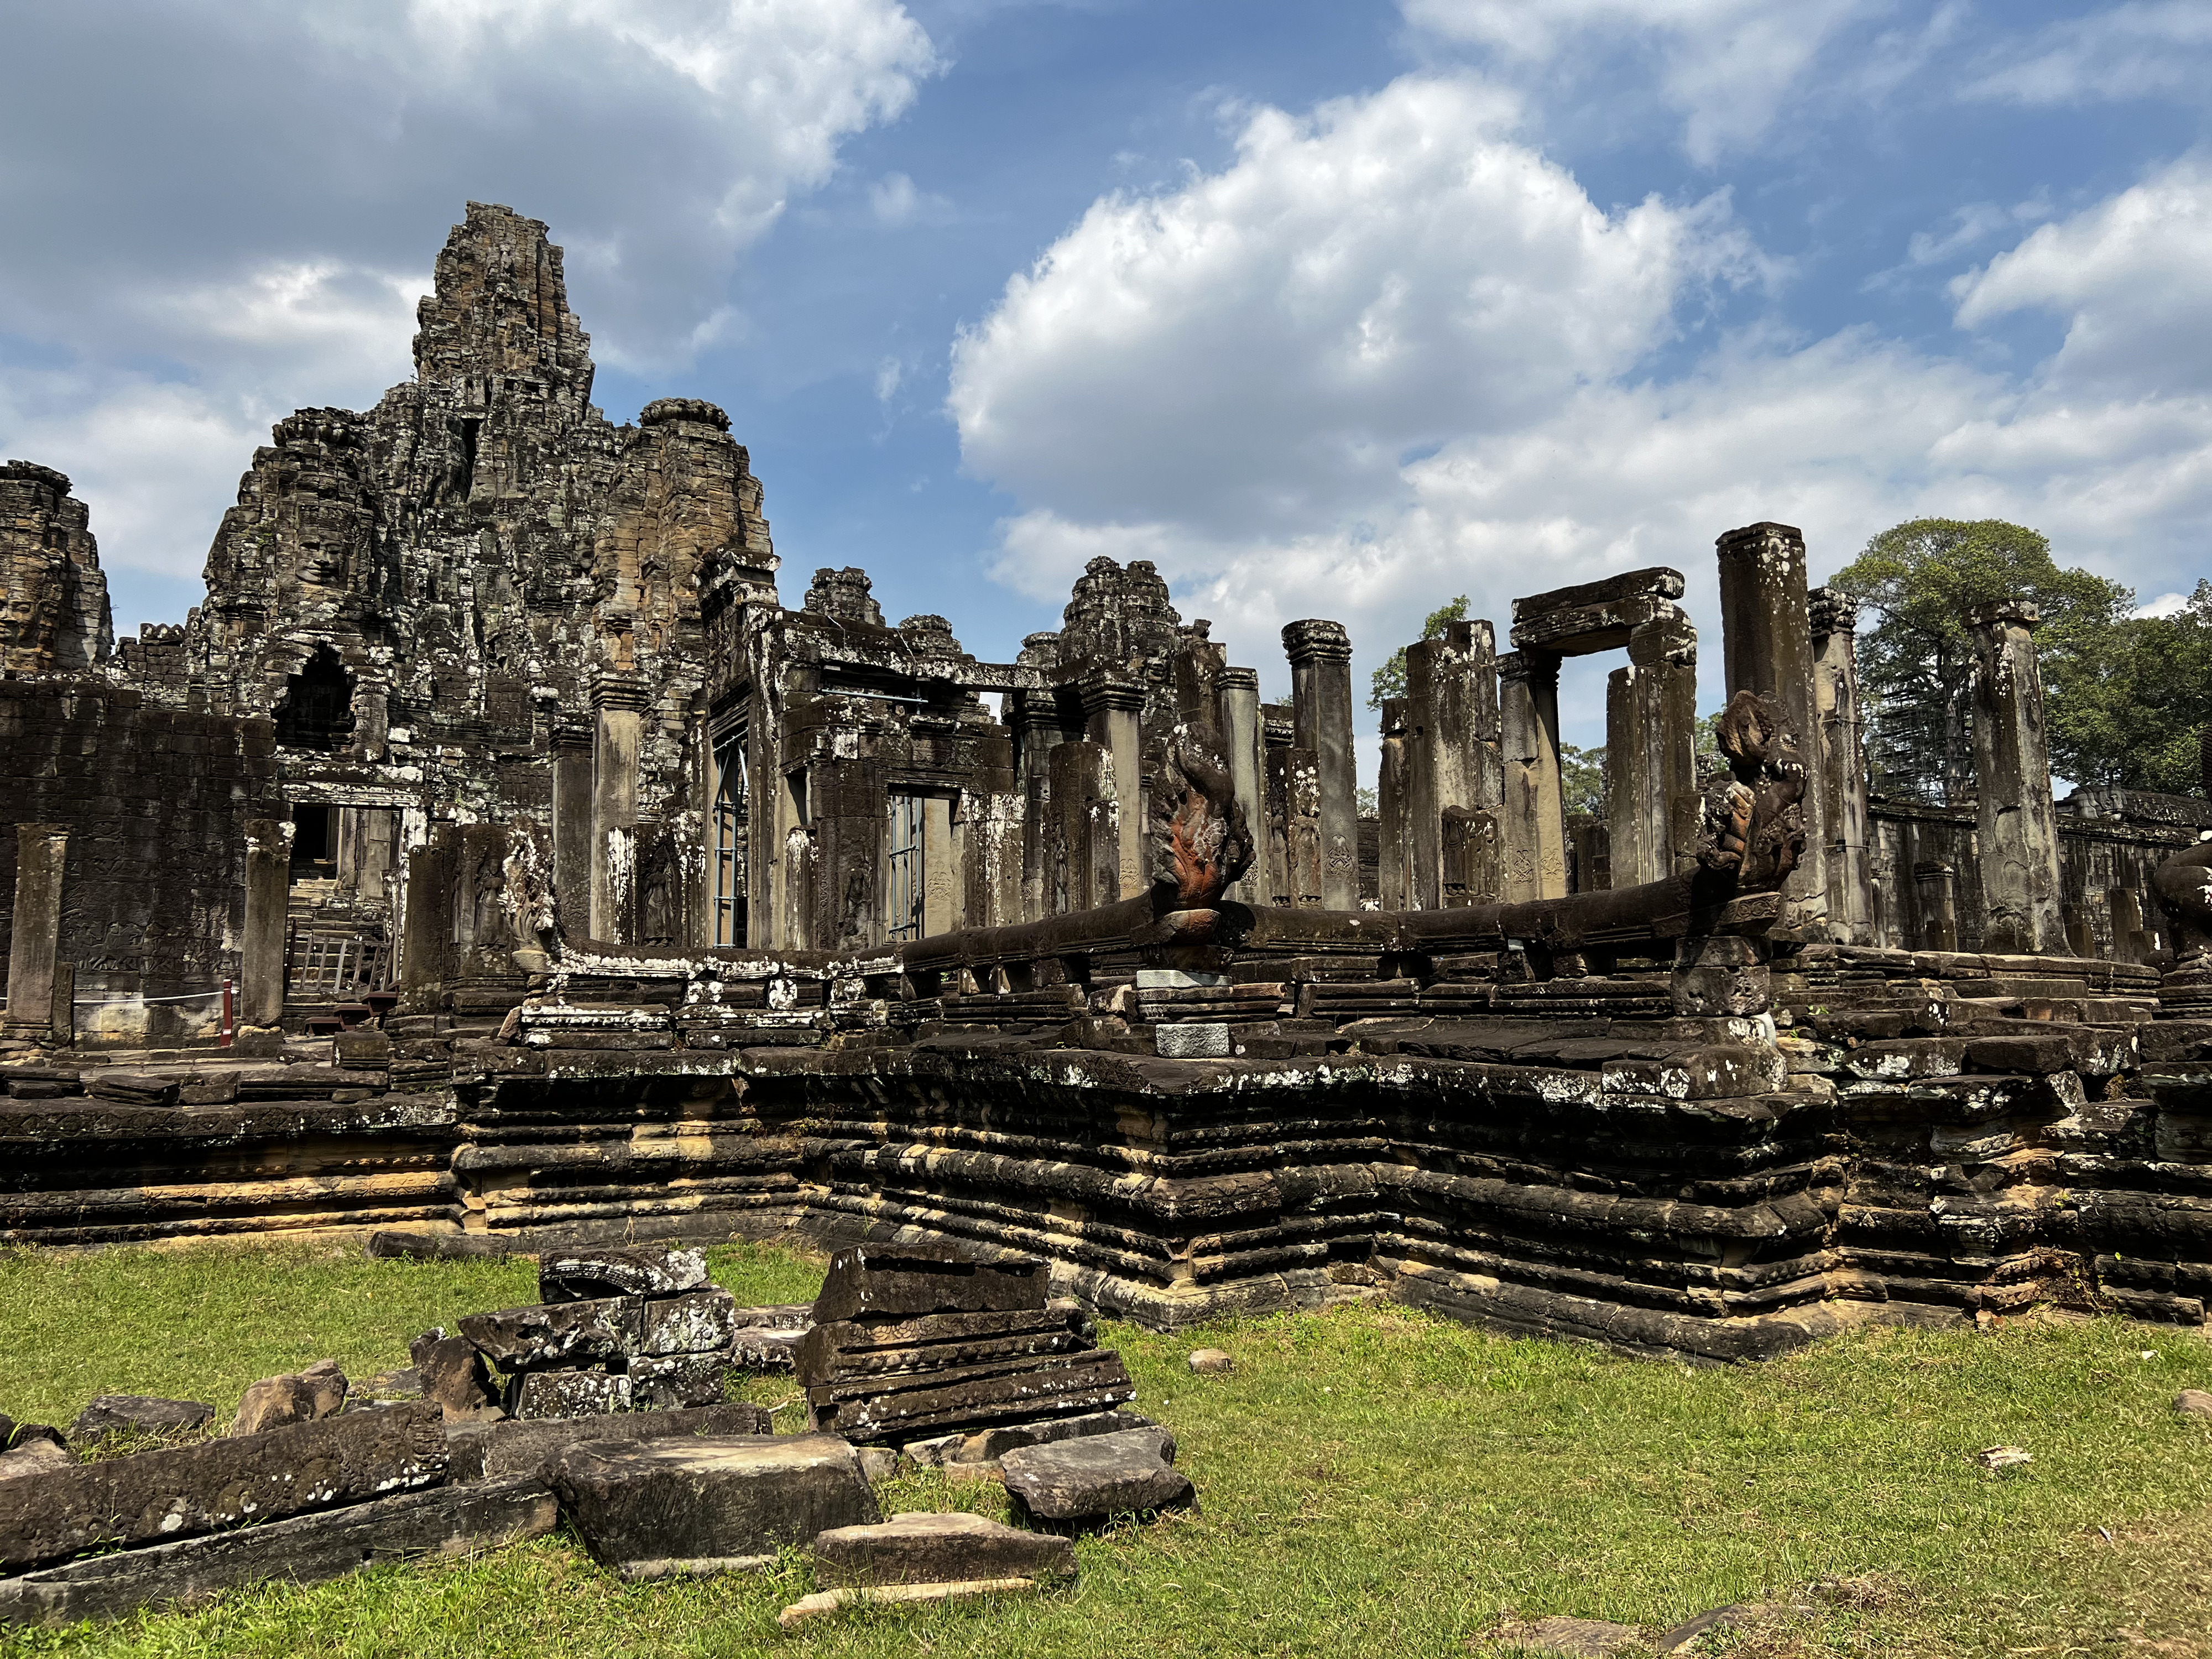
[[[1973,630],[1973,768],[1982,874],[1982,949],[2044,956],[2066,949],[2059,909],[2059,825],[2051,803],[2044,677],[2026,599],[1978,606]]]

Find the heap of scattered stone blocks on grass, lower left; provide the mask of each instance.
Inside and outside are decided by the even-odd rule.
[[[380,1389],[356,1391],[327,1360],[263,1378],[215,1440],[77,1462],[55,1429],[0,1418],[0,1624],[312,1584],[538,1537],[562,1517],[626,1579],[810,1548],[821,1595],[787,1610],[785,1624],[801,1624],[867,1599],[1035,1588],[1073,1575],[1071,1526],[1192,1502],[1164,1429],[1095,1409],[1130,1396],[1128,1374],[1073,1305],[1044,1303],[1035,1259],[845,1252],[812,1307],[763,1310],[774,1327],[739,1325],[692,1250],[549,1250],[540,1294],[465,1318],[458,1336],[425,1334]],[[743,1365],[739,1329],[774,1329],[790,1338],[774,1363],[796,1349],[803,1376],[827,1378],[810,1387],[805,1431],[779,1436],[765,1409],[721,1398]],[[710,1358],[714,1402],[608,1409],[635,1402],[622,1387],[630,1367],[670,1356],[655,1347]],[[504,1383],[491,1387],[487,1360]],[[821,1389],[830,1398],[816,1400]],[[920,1413],[880,1405],[918,1389]],[[197,1402],[102,1396],[77,1440],[95,1451],[119,1431],[175,1436],[210,1420]],[[902,1458],[854,1444],[914,1427],[953,1431]],[[883,1520],[874,1482],[900,1460],[1002,1471],[1018,1513],[1048,1531]]]

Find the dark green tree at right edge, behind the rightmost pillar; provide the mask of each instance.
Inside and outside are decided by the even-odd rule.
[[[2197,794],[2212,723],[2212,582],[2170,617],[2121,617],[2044,657],[2051,770],[2075,783]]]

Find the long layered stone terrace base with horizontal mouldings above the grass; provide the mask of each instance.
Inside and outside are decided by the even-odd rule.
[[[945,1035],[49,1062],[0,1104],[0,1241],[931,1241],[1042,1254],[1157,1329],[1380,1285],[1701,1360],[2037,1298],[2203,1325],[2212,1024],[1836,1018],[1856,1048],[1759,1020],[1374,1018],[1290,1060]]]

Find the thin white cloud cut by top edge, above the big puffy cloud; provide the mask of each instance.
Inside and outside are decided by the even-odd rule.
[[[1683,148],[1710,166],[1759,142],[1798,95],[1823,49],[1887,0],[1402,0],[1429,35],[1482,46],[1509,71],[1575,75],[1630,53],[1652,58]],[[1885,42],[1885,53],[1909,53]]]

